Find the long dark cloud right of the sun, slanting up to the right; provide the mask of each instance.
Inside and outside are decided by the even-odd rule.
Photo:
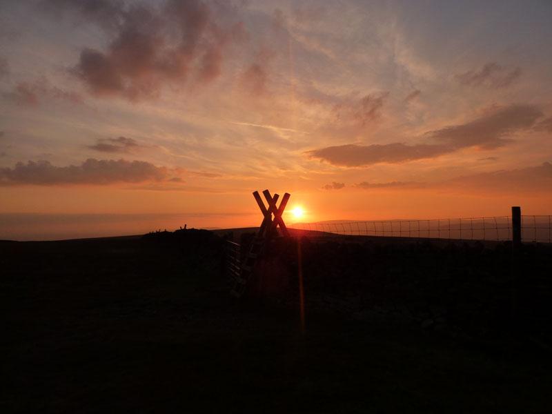
[[[495,112],[466,124],[426,132],[424,137],[431,139],[433,144],[346,144],[307,151],[306,155],[335,166],[360,167],[434,158],[461,148],[479,147],[489,150],[508,144],[511,140],[506,139],[506,136],[531,128],[542,116],[542,111],[537,106],[514,105],[498,108]]]

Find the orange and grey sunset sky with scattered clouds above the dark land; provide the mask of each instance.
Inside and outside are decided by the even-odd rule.
[[[552,214],[552,2],[0,1],[0,239]]]

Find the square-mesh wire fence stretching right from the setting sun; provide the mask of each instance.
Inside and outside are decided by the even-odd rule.
[[[511,240],[513,233],[511,216],[295,223],[288,227],[337,235],[493,240],[497,242]],[[521,230],[522,242],[552,243],[552,216],[522,215]]]

